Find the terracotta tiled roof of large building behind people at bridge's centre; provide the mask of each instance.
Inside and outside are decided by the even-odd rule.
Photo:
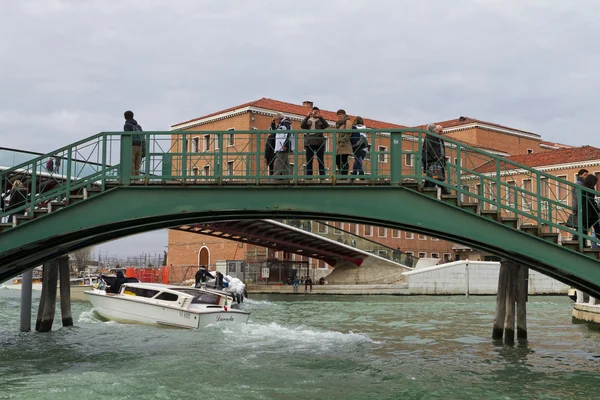
[[[271,110],[271,111],[282,112],[285,114],[296,114],[296,115],[301,115],[301,116],[305,116],[308,113],[308,108],[305,106],[302,106],[299,104],[286,103],[283,101],[273,100],[273,99],[268,99],[266,97],[263,97],[262,99],[244,103],[239,106],[227,108],[225,110],[217,111],[217,112],[205,115],[200,118],[194,118],[189,121],[180,122],[178,124],[172,125],[172,127],[175,128],[179,125],[187,124],[187,123],[194,122],[194,121],[200,121],[205,118],[214,117],[219,114],[232,112],[232,111],[239,110],[239,109],[242,109],[245,107],[264,108],[264,109]],[[327,110],[321,109],[321,115],[328,121],[337,121],[337,116],[335,115],[335,111],[327,111]],[[368,118],[364,118],[364,117],[363,117],[363,119],[365,121],[365,125],[368,128],[373,128],[373,129],[406,128],[406,126],[404,126],[404,125],[392,124],[390,122],[377,121],[377,120],[368,119]]]

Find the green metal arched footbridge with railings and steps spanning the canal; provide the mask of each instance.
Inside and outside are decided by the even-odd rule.
[[[257,130],[143,132],[137,175],[132,135],[123,132],[99,133],[5,169],[2,201],[11,206],[0,213],[0,282],[78,248],[136,233],[301,218],[430,235],[600,296],[599,251],[584,248],[598,239],[583,232],[581,213],[578,228],[565,226],[573,190],[579,209],[583,192],[598,193],[448,138],[447,178],[438,181],[423,173],[421,159],[426,136],[438,136],[419,129],[367,130],[365,174],[357,176],[335,170],[339,143],[350,131],[324,131],[329,168],[324,176],[309,176],[306,132],[286,132],[295,144],[287,175],[269,175],[264,149],[273,131]],[[516,185],[515,176],[529,184]],[[11,202],[15,180],[23,182],[24,198]]]

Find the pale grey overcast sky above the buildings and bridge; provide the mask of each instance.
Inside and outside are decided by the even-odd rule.
[[[597,0],[0,0],[0,146],[51,151],[121,130],[126,109],[167,130],[261,97],[600,146],[599,14]]]

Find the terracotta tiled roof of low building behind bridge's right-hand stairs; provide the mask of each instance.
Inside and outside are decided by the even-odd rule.
[[[571,147],[560,150],[544,151],[541,153],[522,154],[507,157],[508,160],[527,167],[545,167],[549,165],[569,164],[581,161],[600,160],[600,149],[593,146]],[[503,170],[511,168],[510,164],[501,165]],[[483,165],[478,172],[491,172],[494,165]]]

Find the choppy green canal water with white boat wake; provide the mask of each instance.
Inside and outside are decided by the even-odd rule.
[[[256,295],[247,325],[205,331],[74,303],[75,327],[23,334],[19,295],[0,289],[0,399],[600,398],[600,332],[566,296],[530,297],[529,341],[505,346],[494,297]]]

